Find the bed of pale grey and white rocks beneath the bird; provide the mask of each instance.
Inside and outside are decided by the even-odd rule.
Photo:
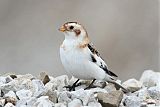
[[[129,79],[124,93],[111,83],[96,81],[96,88],[84,90],[90,81],[81,80],[76,91],[64,86],[76,81],[66,75],[51,77],[44,72],[0,76],[0,107],[160,107],[160,73],[144,71],[140,80]],[[121,84],[121,81],[118,80]]]

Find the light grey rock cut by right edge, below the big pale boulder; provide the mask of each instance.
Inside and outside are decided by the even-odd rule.
[[[148,93],[151,98],[160,100],[160,87],[159,86],[150,87],[148,89]]]

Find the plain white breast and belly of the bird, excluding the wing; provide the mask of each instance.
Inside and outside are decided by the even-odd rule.
[[[87,70],[89,57],[90,54],[87,52],[86,48],[78,49],[69,46],[65,41],[60,47],[60,58],[65,70],[76,78],[93,79],[92,75]]]

